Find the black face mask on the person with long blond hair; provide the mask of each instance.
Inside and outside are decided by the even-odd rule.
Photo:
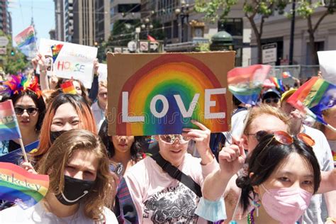
[[[65,187],[56,198],[65,206],[72,206],[89,194],[95,181],[85,181],[65,175]]]

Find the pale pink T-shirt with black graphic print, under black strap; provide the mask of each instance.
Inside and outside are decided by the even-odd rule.
[[[186,154],[179,169],[200,186],[218,163],[201,165],[201,159]],[[184,184],[162,170],[151,157],[131,167],[125,180],[137,208],[140,223],[206,223],[194,214],[199,198]]]

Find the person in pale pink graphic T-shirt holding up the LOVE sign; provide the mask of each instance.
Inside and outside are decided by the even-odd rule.
[[[206,223],[194,214],[203,179],[218,168],[209,147],[210,130],[184,128],[182,135],[157,135],[159,153],[146,157],[125,174],[139,223]],[[196,142],[201,159],[186,153]],[[183,177],[182,179],[180,177]]]

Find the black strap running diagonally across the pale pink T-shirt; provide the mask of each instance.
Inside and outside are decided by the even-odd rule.
[[[177,167],[174,167],[170,162],[164,159],[159,153],[155,153],[152,155],[152,159],[157,162],[157,164],[169,174],[170,177],[179,180],[182,184],[187,186],[191,191],[201,198],[202,191],[201,186],[199,186],[191,177],[187,176],[183,172],[181,172]]]

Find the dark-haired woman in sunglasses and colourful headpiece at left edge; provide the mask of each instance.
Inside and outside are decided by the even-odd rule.
[[[45,102],[38,86],[37,77],[26,77],[23,74],[11,76],[3,84],[1,101],[11,99],[18,119],[23,145],[38,141],[43,118]],[[0,156],[21,148],[18,140],[0,142]]]

